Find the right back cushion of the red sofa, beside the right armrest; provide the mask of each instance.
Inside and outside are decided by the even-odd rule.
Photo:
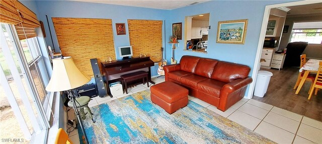
[[[218,61],[211,78],[228,83],[239,78],[246,78],[250,71],[251,68],[247,65]]]

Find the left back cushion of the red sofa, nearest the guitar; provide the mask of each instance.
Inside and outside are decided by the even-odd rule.
[[[200,57],[183,55],[180,59],[180,69],[194,73]]]

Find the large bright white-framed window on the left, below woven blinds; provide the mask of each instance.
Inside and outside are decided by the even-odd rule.
[[[49,78],[37,38],[18,40],[13,25],[0,25],[1,137],[29,143],[32,135],[46,134],[49,127],[49,94],[44,90]]]

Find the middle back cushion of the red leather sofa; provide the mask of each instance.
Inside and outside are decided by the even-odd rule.
[[[200,58],[195,69],[195,74],[210,78],[217,62],[218,60],[216,59]]]

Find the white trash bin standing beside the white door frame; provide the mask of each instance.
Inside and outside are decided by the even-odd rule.
[[[273,73],[270,71],[260,70],[257,74],[254,95],[263,97],[267,91]]]

